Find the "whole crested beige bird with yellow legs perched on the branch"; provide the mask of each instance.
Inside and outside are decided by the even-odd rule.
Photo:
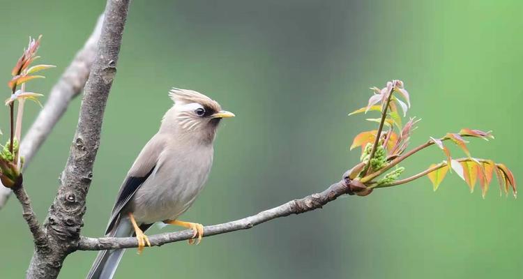
[[[174,105],[163,116],[158,133],[130,167],[105,230],[105,236],[135,236],[138,253],[146,245],[151,246],[144,232],[154,223],[192,229],[189,243],[202,240],[202,224],[178,218],[204,188],[213,163],[218,124],[235,116],[197,91],[173,88],[169,97]],[[87,278],[112,278],[123,252],[124,249],[98,252]]]

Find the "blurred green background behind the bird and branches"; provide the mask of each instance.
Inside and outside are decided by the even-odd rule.
[[[2,77],[10,78],[27,37],[42,33],[41,61],[57,68],[29,84],[41,93],[105,6],[0,3]],[[423,119],[412,144],[463,127],[494,130],[496,140],[472,140],[469,149],[522,177],[522,8],[521,1],[133,1],[82,233],[103,233],[123,177],[172,105],[171,86],[202,91],[237,116],[220,128],[209,182],[184,220],[243,218],[338,181],[359,157],[348,150],[351,139],[373,127],[347,113],[365,104],[368,87],[392,79],[404,80],[411,115]],[[24,176],[40,220],[78,108],[79,98]],[[25,128],[36,113],[29,105]],[[427,150],[404,166],[414,173],[443,159]],[[496,181],[482,199],[455,174],[436,193],[423,178],[199,246],[130,250],[116,278],[521,278],[522,210],[521,201],[499,197]],[[22,278],[33,248],[20,205],[11,199],[0,218],[1,278]],[[94,257],[70,255],[60,278],[84,278]]]

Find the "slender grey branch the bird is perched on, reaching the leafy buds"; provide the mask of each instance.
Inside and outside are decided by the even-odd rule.
[[[265,223],[275,218],[289,216],[291,214],[299,214],[314,209],[321,209],[328,202],[332,202],[340,195],[351,193],[351,187],[345,180],[334,183],[329,188],[321,193],[316,193],[304,197],[303,199],[294,199],[290,202],[261,211],[256,215],[249,216],[240,220],[223,223],[219,225],[211,225],[204,227],[204,236],[213,236],[216,234],[225,234],[227,232],[234,232],[240,229],[250,229],[255,225]],[[192,231],[184,230],[182,232],[168,232],[165,234],[156,234],[149,236],[151,246],[161,246],[165,243],[172,243],[176,241],[183,241],[192,237]],[[82,236],[78,242],[78,250],[112,250],[119,248],[134,248],[138,243],[134,237],[101,237],[91,238]]]

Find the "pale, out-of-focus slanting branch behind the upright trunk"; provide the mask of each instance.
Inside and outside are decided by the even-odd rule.
[[[63,113],[66,112],[70,101],[84,89],[96,56],[96,46],[100,38],[102,22],[103,15],[100,15],[93,33],[51,89],[47,102],[22,140],[20,154],[24,156],[24,169],[50,135]],[[13,192],[9,188],[0,187],[0,209],[6,205],[11,193]]]

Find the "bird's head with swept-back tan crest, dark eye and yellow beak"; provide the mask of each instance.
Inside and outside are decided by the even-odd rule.
[[[162,128],[176,130],[192,140],[212,142],[215,130],[224,118],[234,117],[218,102],[197,91],[173,88],[169,97],[174,106],[165,114]]]

